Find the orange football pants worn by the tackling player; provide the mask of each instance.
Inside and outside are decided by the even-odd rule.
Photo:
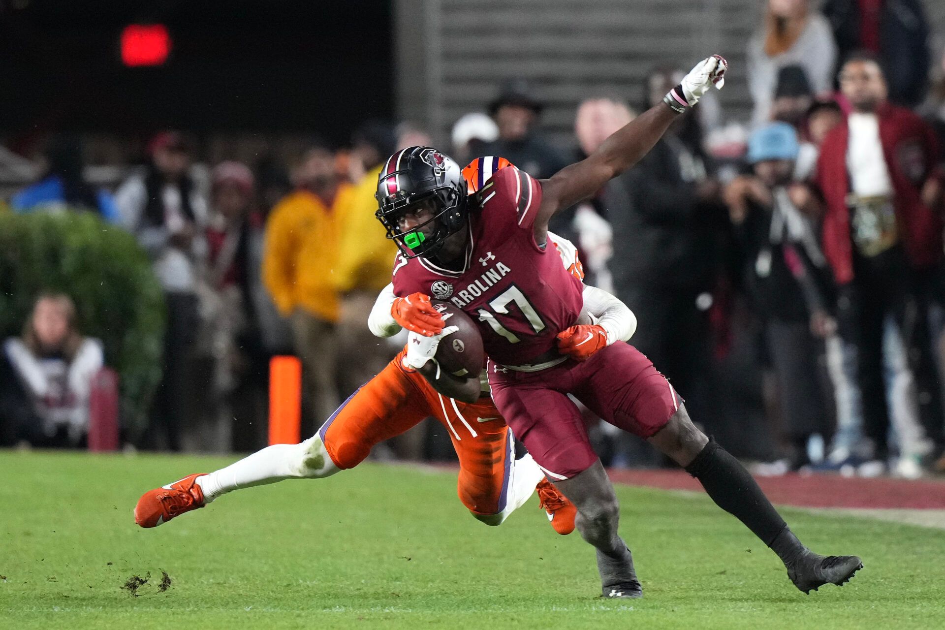
[[[375,444],[436,417],[459,457],[459,500],[474,514],[502,512],[515,456],[506,421],[488,396],[470,404],[440,395],[420,374],[404,370],[405,353],[401,350],[322,425],[318,434],[325,450],[338,468],[354,468]]]

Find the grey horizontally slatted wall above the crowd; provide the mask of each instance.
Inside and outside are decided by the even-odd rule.
[[[945,36],[945,2],[925,5],[934,32]],[[524,78],[546,104],[542,124],[563,141],[582,98],[616,92],[639,107],[653,67],[688,70],[720,51],[733,68],[719,95],[722,116],[746,120],[745,48],[763,7],[761,0],[394,0],[397,111],[430,121],[442,141],[460,115],[484,111],[503,81]]]

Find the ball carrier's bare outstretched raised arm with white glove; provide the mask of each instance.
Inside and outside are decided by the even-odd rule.
[[[593,196],[610,179],[640,161],[662,138],[677,114],[696,105],[713,85],[721,89],[726,60],[718,55],[699,61],[662,103],[613,132],[603,145],[581,162],[565,166],[541,181],[541,206],[535,217],[535,237],[544,241],[548,221],[555,213]]]

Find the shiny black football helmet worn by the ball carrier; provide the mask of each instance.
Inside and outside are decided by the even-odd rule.
[[[377,216],[404,256],[431,258],[450,234],[468,219],[466,179],[459,164],[432,146],[410,146],[387,159],[377,180]],[[398,219],[405,210],[432,200],[433,218],[413,230],[402,231]],[[433,233],[423,228],[433,223]]]

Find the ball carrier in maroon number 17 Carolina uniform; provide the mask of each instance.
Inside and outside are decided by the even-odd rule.
[[[638,162],[677,115],[713,85],[722,87],[726,68],[717,55],[700,61],[662,103],[551,179],[504,168],[467,198],[453,160],[412,146],[390,156],[378,180],[377,217],[401,248],[391,315],[408,330],[436,334],[443,324],[432,296],[478,323],[495,403],[575,503],[577,528],[596,548],[603,597],[641,597],[643,588],[617,533],[613,487],[568,394],[696,477],[714,502],[779,555],[800,590],[843,584],[862,567],[856,556],[825,557],[801,544],[738,460],[696,428],[679,394],[643,354],[606,327],[578,323],[580,282],[546,247],[555,213]],[[560,351],[577,347],[585,360]]]

